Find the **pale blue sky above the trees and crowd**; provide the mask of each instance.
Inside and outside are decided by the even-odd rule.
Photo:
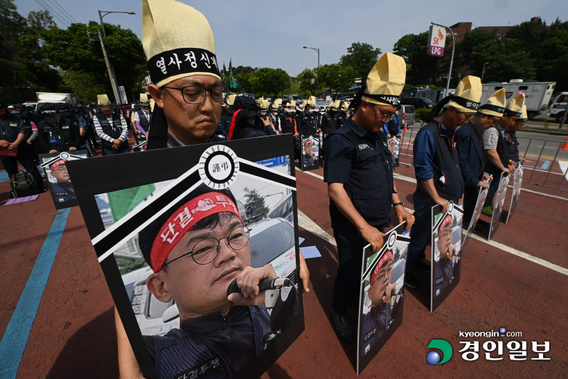
[[[38,2],[39,1],[39,2]],[[383,52],[392,51],[406,34],[428,30],[430,21],[451,26],[471,21],[474,26],[520,24],[539,16],[547,24],[556,17],[568,19],[568,1],[224,1],[181,2],[193,6],[208,19],[218,61],[229,66],[281,68],[296,75],[305,67],[317,67],[317,53],[302,46],[320,49],[320,63],[336,63],[353,42],[366,42]],[[136,15],[112,14],[105,23],[120,24],[142,37],[141,0],[16,0],[22,15],[44,10],[46,4],[64,21],[98,21],[97,10],[132,11]],[[353,6],[352,4],[357,4]],[[69,16],[57,8],[60,5]],[[60,28],[67,24],[54,17]]]

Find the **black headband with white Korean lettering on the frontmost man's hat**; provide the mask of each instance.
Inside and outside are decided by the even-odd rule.
[[[180,73],[204,72],[219,76],[215,54],[197,48],[174,49],[154,55],[148,60],[148,70],[154,83]]]

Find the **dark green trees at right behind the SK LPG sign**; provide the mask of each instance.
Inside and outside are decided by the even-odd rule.
[[[393,52],[407,62],[407,84],[418,82],[445,87],[452,42],[443,58],[427,55],[428,33],[405,35]],[[481,76],[483,82],[511,79],[555,81],[556,91],[568,89],[568,22],[557,19],[550,26],[526,21],[511,27],[505,36],[495,30],[470,30],[456,42],[451,87],[459,76]],[[485,71],[483,72],[483,64]]]

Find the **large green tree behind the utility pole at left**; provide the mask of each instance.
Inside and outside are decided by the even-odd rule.
[[[64,71],[91,73],[105,85],[105,93],[112,98],[112,86],[106,76],[106,64],[100,43],[87,40],[87,31],[100,29],[95,21],[87,24],[71,24],[67,29],[52,26],[42,33],[45,44],[43,51],[48,63]],[[147,61],[140,39],[130,29],[113,24],[105,24],[107,39],[105,47],[109,60],[114,66],[116,82],[123,85],[127,93],[139,88],[145,74]]]

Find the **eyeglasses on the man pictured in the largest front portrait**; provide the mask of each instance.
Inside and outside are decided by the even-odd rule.
[[[221,249],[220,243],[222,240],[227,240],[227,246],[231,247],[231,249],[238,251],[244,249],[249,243],[249,228],[245,227],[245,225],[240,225],[240,227],[236,227],[229,232],[229,236],[223,237],[220,239],[217,238],[204,238],[199,240],[199,242],[193,245],[193,248],[190,252],[186,254],[181,254],[175,259],[172,259],[169,262],[163,263],[162,267],[169,265],[172,262],[177,261],[180,258],[184,258],[184,256],[191,255],[193,261],[198,265],[208,265],[209,263],[215,261],[215,258],[219,255],[219,251]]]

